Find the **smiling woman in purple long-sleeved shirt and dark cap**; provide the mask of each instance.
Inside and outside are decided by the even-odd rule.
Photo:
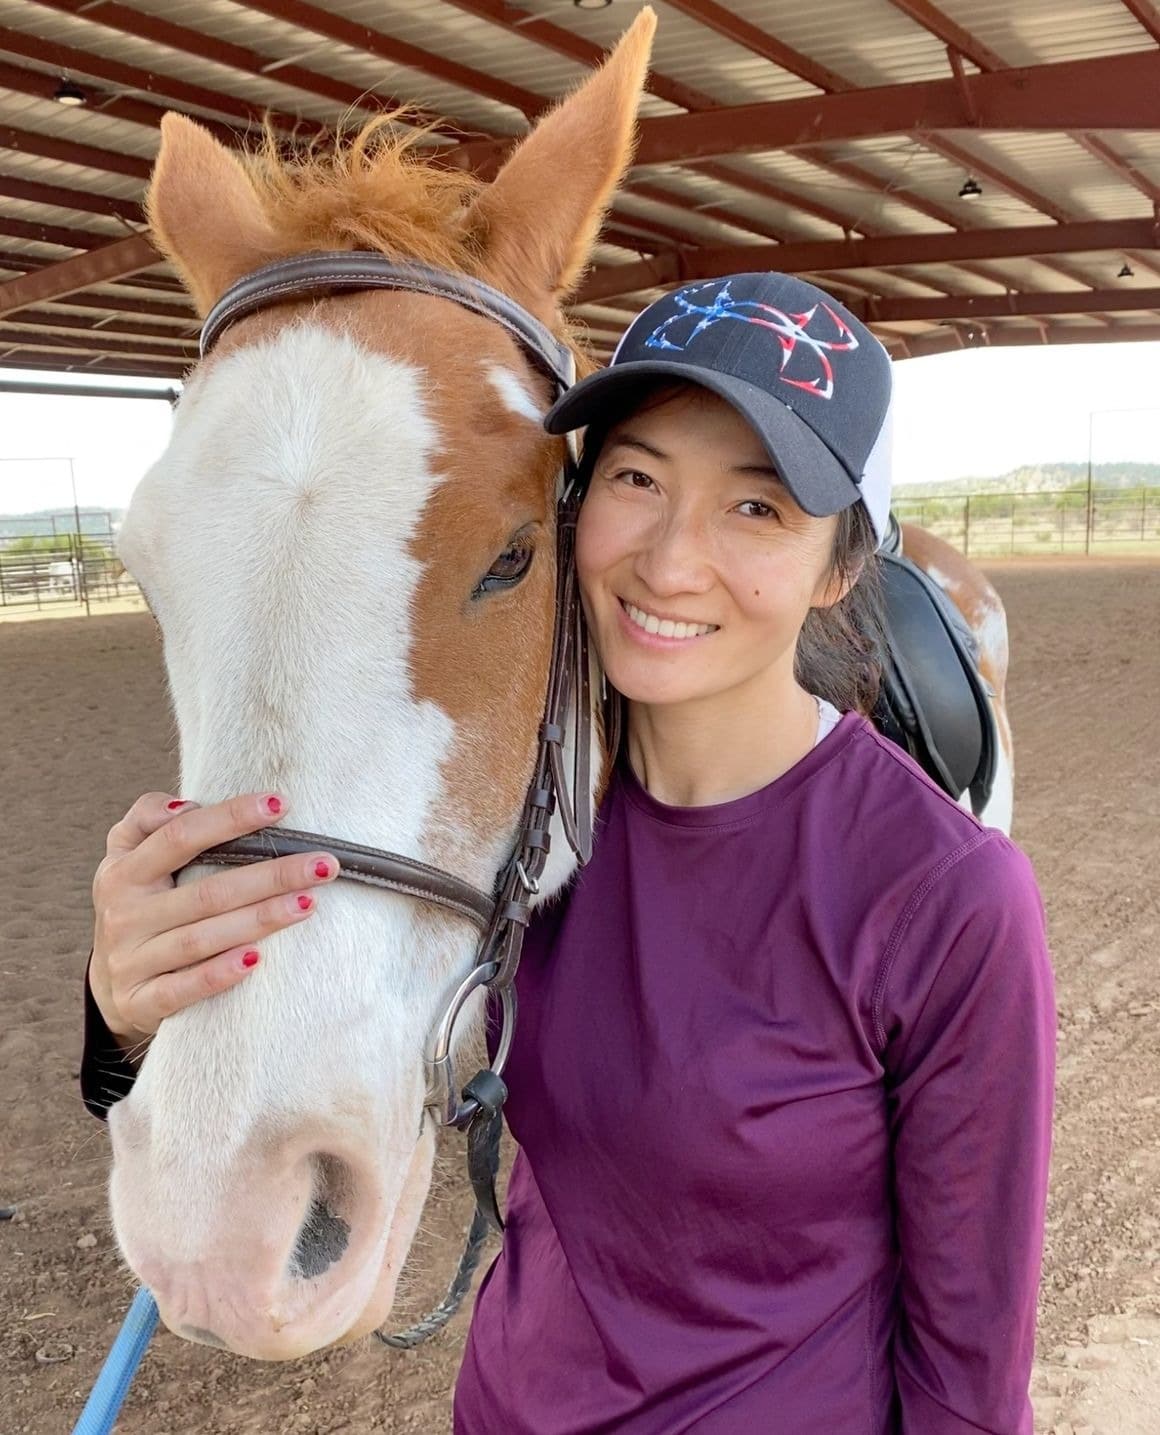
[[[1051,969],[1026,860],[861,716],[889,408],[869,330],[748,274],[650,306],[548,415],[587,428],[576,561],[625,742],[524,949],[458,1435],[1031,1435]],[[266,921],[301,920],[309,874],[274,898],[268,865]],[[141,900],[98,911],[89,1092],[108,1027],[243,976],[142,971],[131,1020],[106,934]]]

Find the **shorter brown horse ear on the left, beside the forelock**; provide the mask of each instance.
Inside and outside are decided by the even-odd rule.
[[[146,215],[154,243],[177,265],[202,314],[274,248],[244,165],[185,115],[161,121]]]

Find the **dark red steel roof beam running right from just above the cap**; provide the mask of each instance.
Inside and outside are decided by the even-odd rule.
[[[589,276],[574,303],[589,304],[616,294],[635,294],[698,278],[719,278],[736,268],[762,265],[800,274],[810,270],[893,268],[899,264],[955,264],[960,260],[1038,258],[1041,254],[1157,247],[1160,224],[1156,220],[1094,220],[1081,224],[1034,224],[807,244],[729,244],[693,253],[660,254],[640,264],[600,270]]]

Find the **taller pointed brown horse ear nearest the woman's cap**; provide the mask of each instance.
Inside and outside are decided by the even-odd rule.
[[[546,319],[579,283],[632,161],[655,30],[656,16],[646,7],[604,65],[535,125],[475,202],[490,277]]]

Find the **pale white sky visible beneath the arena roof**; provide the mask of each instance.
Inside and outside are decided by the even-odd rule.
[[[1097,464],[1160,462],[1160,343],[907,359],[894,364],[894,482],[916,492],[1024,464],[1087,462],[1088,451]],[[123,508],[169,423],[162,400],[0,393],[0,512],[70,507],[69,459],[82,507]]]

